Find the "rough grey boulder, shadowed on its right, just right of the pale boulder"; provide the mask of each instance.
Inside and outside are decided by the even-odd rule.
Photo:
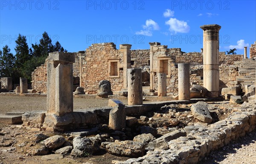
[[[87,152],[89,154],[93,154],[99,150],[99,143],[97,138],[83,138],[83,137],[75,137],[73,139],[73,147],[74,149],[79,149],[83,152]]]

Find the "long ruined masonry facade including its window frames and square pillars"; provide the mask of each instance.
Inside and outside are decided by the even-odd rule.
[[[149,46],[150,49],[131,50],[131,45],[128,44],[120,45],[120,49],[116,49],[114,43],[92,44],[86,51],[75,53],[73,84],[84,87],[86,94],[96,94],[99,81],[108,80],[111,82],[113,92],[118,92],[127,89],[126,70],[141,68],[144,91],[157,91],[158,73],[165,73],[167,94],[177,95],[177,64],[190,63],[190,83],[203,85],[204,52],[185,53],[180,48],[169,49],[157,42],[150,43]],[[253,52],[251,47],[250,52]],[[235,61],[240,61],[242,58],[243,55],[226,55],[225,52],[219,52],[219,91],[223,87],[237,84],[238,65]],[[46,63],[32,72],[32,89],[47,92]]]

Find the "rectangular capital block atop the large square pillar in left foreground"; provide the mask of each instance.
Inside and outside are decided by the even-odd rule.
[[[71,52],[52,52],[49,53],[49,61],[64,61],[67,63],[75,63],[75,53]]]

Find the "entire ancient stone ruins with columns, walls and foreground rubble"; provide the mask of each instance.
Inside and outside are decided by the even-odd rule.
[[[99,43],[82,52],[49,53],[32,73],[34,90],[25,78],[15,93],[7,92],[14,88],[10,78],[0,83],[6,91],[0,98],[47,97],[46,110],[6,112],[0,122],[36,132],[24,134],[33,144],[18,147],[42,160],[103,152],[125,157],[115,164],[197,164],[256,127],[256,44],[250,58],[246,48],[244,55],[225,55],[219,52],[221,26],[200,28],[201,52],[152,42],[148,50]],[[108,103],[75,109],[89,99]]]

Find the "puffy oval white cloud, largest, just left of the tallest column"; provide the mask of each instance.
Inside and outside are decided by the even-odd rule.
[[[176,18],[170,18],[170,20],[166,21],[166,24],[170,26],[170,32],[187,33],[190,30],[189,25],[185,21],[177,20]]]

